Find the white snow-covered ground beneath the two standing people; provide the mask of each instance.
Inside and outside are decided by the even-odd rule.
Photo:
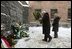
[[[51,27],[51,42],[42,41],[42,27],[29,27],[29,38],[20,39],[15,48],[71,48],[71,28],[59,27],[58,38],[54,37]]]

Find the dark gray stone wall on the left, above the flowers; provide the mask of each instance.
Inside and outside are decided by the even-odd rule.
[[[28,22],[28,8],[21,6],[18,1],[1,1],[1,23],[6,24],[6,28],[10,29],[13,20],[16,22]]]

